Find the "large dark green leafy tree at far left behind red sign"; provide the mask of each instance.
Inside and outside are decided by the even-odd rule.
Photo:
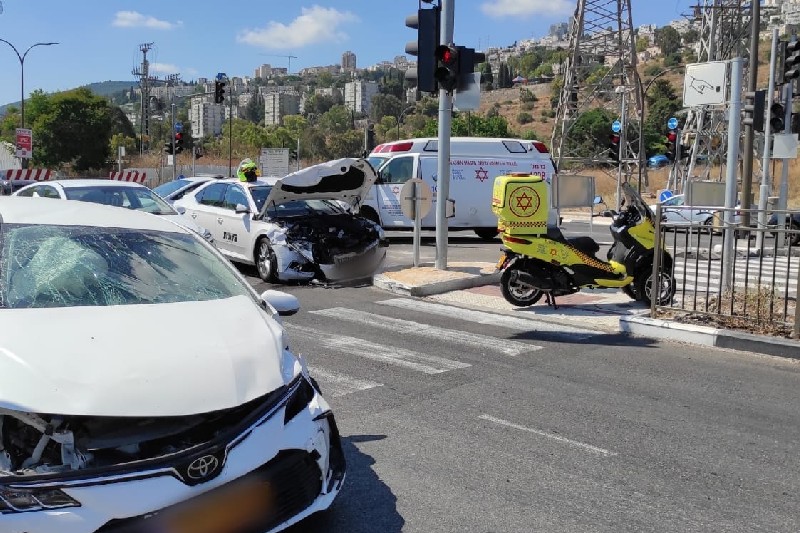
[[[56,167],[67,163],[78,171],[104,167],[112,127],[108,101],[80,88],[54,94],[46,107],[33,125],[38,146],[34,164]]]

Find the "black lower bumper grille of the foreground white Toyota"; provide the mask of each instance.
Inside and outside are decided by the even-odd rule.
[[[235,533],[268,531],[308,508],[322,490],[322,474],[311,455],[302,450],[285,450],[246,476],[202,494],[195,500],[162,509],[146,517],[111,520],[95,533],[148,533],[154,530],[154,523],[170,514],[181,512],[182,507],[206,501],[211,503],[220,491],[253,482],[268,484],[271,488],[271,508],[263,509],[262,516],[256,517],[257,523]]]

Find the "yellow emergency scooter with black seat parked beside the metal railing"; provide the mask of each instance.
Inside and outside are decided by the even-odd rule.
[[[655,223],[639,193],[623,184],[625,208],[614,217],[614,244],[606,260],[597,258],[600,246],[591,237],[565,238],[548,225],[550,185],[540,176],[509,174],[494,182],[492,211],[503,241],[497,268],[503,271],[500,289],[511,304],[525,307],[546,297],[578,292],[584,287],[618,287],[634,300],[650,305],[652,298],[666,304],[675,295],[672,257],[660,260],[659,279],[653,283]],[[663,249],[663,248],[662,248]]]

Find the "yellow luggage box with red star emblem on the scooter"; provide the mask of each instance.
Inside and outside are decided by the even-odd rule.
[[[547,233],[550,186],[541,176],[513,173],[498,176],[492,190],[497,228],[507,235]]]

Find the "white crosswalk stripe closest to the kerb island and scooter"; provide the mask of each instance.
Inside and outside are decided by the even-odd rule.
[[[394,298],[391,300],[384,300],[378,302],[381,305],[388,305],[390,307],[397,307],[417,313],[429,313],[432,315],[446,316],[457,320],[467,320],[476,322],[478,324],[486,324],[492,327],[503,327],[519,331],[541,331],[546,333],[555,333],[564,336],[569,336],[572,339],[582,340],[602,335],[600,331],[593,331],[590,329],[581,329],[571,326],[563,326],[561,324],[553,324],[550,322],[540,322],[528,318],[517,318],[508,315],[497,313],[488,313],[485,311],[475,311],[473,309],[464,309],[462,307],[455,307],[452,305],[436,304],[425,302],[422,300],[410,300],[406,298]]]

